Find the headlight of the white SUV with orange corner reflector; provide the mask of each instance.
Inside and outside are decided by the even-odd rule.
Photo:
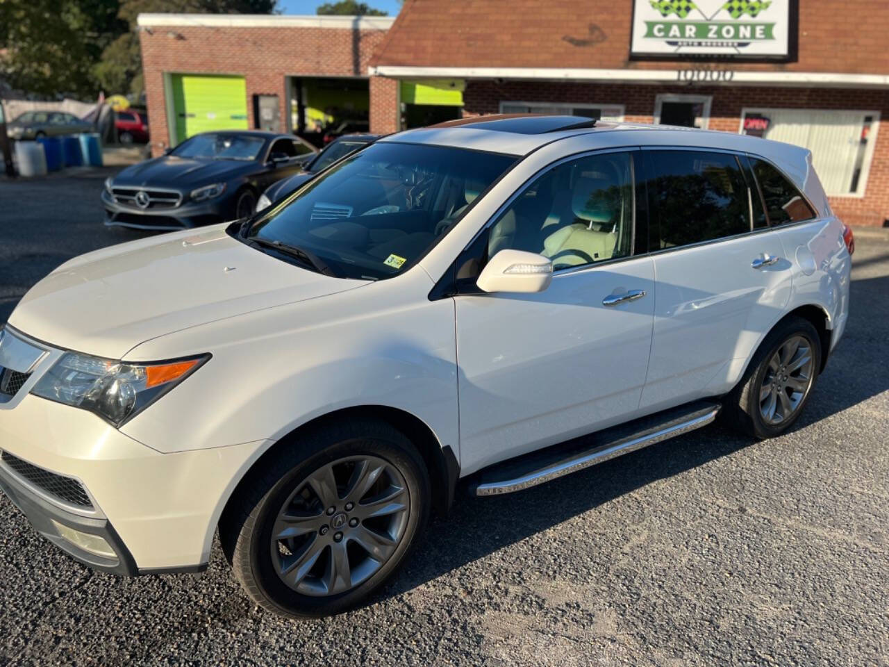
[[[120,426],[172,390],[209,358],[210,355],[203,355],[159,364],[127,364],[66,352],[40,378],[31,393],[89,410]]]

